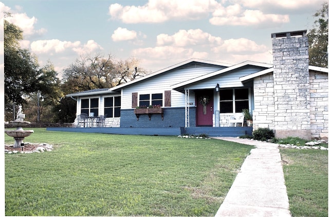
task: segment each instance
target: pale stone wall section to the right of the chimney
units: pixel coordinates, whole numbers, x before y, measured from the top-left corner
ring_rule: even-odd
[[[328,74],[309,71],[310,131],[312,138],[328,138]]]

